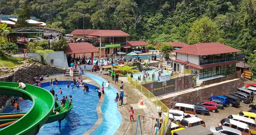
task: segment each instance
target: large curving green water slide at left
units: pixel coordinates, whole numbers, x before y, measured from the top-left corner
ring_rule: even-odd
[[[24,100],[33,101],[31,109],[27,113],[2,113],[0,114],[0,130],[1,135],[7,134],[24,134],[34,135],[39,132],[43,124],[59,121],[69,114],[73,108],[73,104],[68,107],[68,101],[64,108],[59,103],[54,101],[53,95],[47,90],[26,84],[26,90],[16,88],[18,86],[15,82],[0,82],[0,94],[22,97]],[[59,114],[53,113],[60,109]]]

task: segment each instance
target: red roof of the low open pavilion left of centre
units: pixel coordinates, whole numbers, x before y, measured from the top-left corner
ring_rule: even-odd
[[[65,47],[66,54],[78,54],[78,53],[96,53],[99,52],[98,48],[90,43],[68,43]]]

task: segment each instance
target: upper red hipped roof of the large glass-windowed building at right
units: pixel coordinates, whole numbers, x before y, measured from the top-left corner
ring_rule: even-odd
[[[212,55],[212,54],[222,54],[222,53],[234,53],[240,52],[241,50],[234,49],[223,45],[222,43],[196,43],[194,45],[186,46],[173,52],[186,53],[194,55]]]

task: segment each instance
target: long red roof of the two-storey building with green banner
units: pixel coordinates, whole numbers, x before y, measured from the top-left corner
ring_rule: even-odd
[[[71,32],[73,35],[90,35],[90,36],[99,36],[99,37],[112,37],[112,36],[129,36],[129,34],[125,33],[121,30],[74,30]]]

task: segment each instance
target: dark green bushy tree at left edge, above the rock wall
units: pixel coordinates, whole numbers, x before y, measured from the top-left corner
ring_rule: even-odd
[[[0,56],[3,56],[4,54],[16,54],[18,52],[18,47],[15,43],[1,43],[0,45]]]

